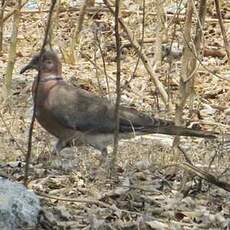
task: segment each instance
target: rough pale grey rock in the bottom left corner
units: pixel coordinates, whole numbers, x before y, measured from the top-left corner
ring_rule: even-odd
[[[34,192],[20,183],[0,177],[1,230],[35,227],[40,210],[40,202]]]

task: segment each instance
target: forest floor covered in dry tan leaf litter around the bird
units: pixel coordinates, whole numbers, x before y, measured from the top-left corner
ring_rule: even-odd
[[[123,15],[126,23],[140,38],[141,15],[135,13],[139,10],[138,5],[124,7],[131,12]],[[224,7],[229,38],[230,3]],[[147,1],[146,10],[155,12],[151,1]],[[146,15],[145,39],[154,40],[156,15]],[[36,75],[33,71],[20,75],[19,71],[40,48],[46,16],[47,13],[22,14],[16,67],[8,95],[3,78],[0,78],[0,160],[9,166],[1,170],[11,174],[17,181],[23,180],[23,162],[32,115],[31,86]],[[56,18],[54,44],[63,63],[63,77],[69,84],[114,100],[116,62],[113,18],[108,12],[95,18],[88,15],[84,22],[75,65],[64,63],[63,50],[76,26],[77,12],[62,12],[59,20]],[[203,49],[215,52],[206,52],[202,65],[198,66],[193,109],[189,110],[186,106],[184,120],[191,126],[226,134],[230,133],[230,70],[226,57],[221,56],[225,51],[220,26],[217,20],[211,19],[216,19],[216,15],[210,5]],[[102,54],[95,40],[96,26],[100,28],[98,36]],[[171,26],[168,34],[172,30]],[[182,30],[183,20],[176,28],[180,44],[183,44]],[[2,76],[7,64],[10,34],[11,23],[7,23],[4,52],[0,57]],[[126,40],[124,37],[123,42]],[[168,39],[171,41],[170,36]],[[143,52],[151,62],[154,41],[145,43]],[[101,55],[105,58],[109,95]],[[129,81],[136,62],[136,53],[127,45],[122,52],[122,85]],[[156,72],[167,85],[172,102],[177,98],[180,70],[181,59],[175,59],[170,69],[169,64],[163,62]],[[161,102],[142,63],[122,92],[122,103],[149,115],[174,118],[174,114],[169,114]],[[186,155],[196,168],[229,182],[230,138],[226,141],[222,136],[216,140],[181,137],[180,146],[185,155],[173,150],[173,139],[172,136],[154,134],[120,141],[117,177],[111,179],[108,165],[99,167],[100,153],[89,146],[67,148],[62,151],[61,158],[44,160],[49,158],[55,140],[36,122],[29,188],[41,197],[43,217],[39,229],[229,229],[228,191],[198,177],[197,173],[188,170],[184,162]],[[111,152],[112,146],[109,148]]]

